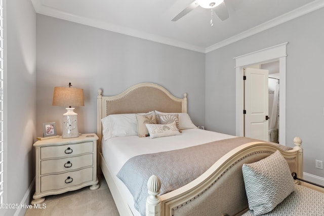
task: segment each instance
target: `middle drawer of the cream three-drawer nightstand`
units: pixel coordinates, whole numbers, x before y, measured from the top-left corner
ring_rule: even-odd
[[[41,161],[41,175],[75,170],[93,165],[93,154]]]

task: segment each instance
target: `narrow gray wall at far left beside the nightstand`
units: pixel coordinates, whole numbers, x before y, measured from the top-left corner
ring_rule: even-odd
[[[21,203],[34,178],[36,138],[36,13],[30,0],[7,1],[7,48],[5,196],[6,203]],[[5,215],[14,215],[17,209],[7,210]]]

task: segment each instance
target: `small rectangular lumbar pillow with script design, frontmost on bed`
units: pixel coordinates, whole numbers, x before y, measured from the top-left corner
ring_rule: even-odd
[[[180,135],[176,122],[170,124],[145,124],[150,139]]]

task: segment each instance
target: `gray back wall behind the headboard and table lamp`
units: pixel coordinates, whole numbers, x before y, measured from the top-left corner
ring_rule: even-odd
[[[97,130],[97,91],[115,95],[139,82],[188,94],[188,113],[205,124],[205,54],[37,14],[37,136],[43,122],[62,133],[65,107],[52,106],[56,86],[84,89],[76,107],[80,133]],[[149,99],[148,99],[149,100]]]

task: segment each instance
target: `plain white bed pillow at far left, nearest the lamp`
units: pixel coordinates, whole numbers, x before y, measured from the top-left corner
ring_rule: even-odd
[[[137,135],[137,120],[135,113],[112,114],[101,119],[103,137],[126,137]]]

